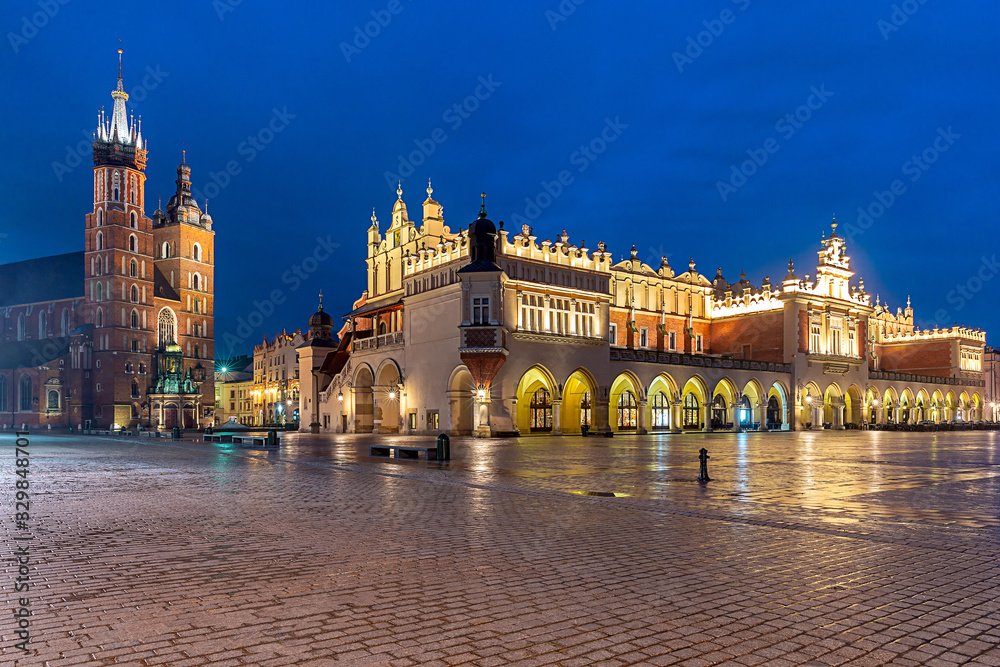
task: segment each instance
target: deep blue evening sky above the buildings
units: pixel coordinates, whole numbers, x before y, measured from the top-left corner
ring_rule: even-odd
[[[34,34],[24,17],[42,11],[38,0],[5,2],[0,262],[82,247],[89,158],[61,182],[53,163],[90,135],[100,106],[110,109],[121,39],[129,106],[150,144],[147,214],[173,192],[182,144],[196,189],[215,194],[220,355],[304,328],[320,289],[328,310],[349,310],[365,286],[372,206],[386,221],[395,200],[385,173],[437,128],[446,139],[403,185],[411,217],[431,177],[452,229],[475,218],[483,189],[491,217],[519,229],[525,198],[569,170],[536,235],[565,228],[616,255],[635,243],[654,266],[667,254],[683,269],[693,255],[710,279],[721,266],[730,281],[742,269],[776,282],[789,257],[800,276],[814,273],[831,215],[843,230],[898,179],[905,192],[867,229],[855,226],[848,247],[868,290],[893,309],[912,295],[918,324],[1000,329],[1000,280],[976,277],[998,270],[982,268],[998,253],[997,3],[909,0],[897,6],[915,13],[905,23],[897,13],[890,31],[889,1],[565,0],[575,11],[555,22],[558,0],[400,0],[348,62],[341,43],[390,4],[76,0]],[[730,22],[713,23],[720,17]],[[708,45],[679,71],[673,54],[699,33]],[[499,86],[456,127],[445,113],[491,76]],[[144,77],[149,89],[137,92]],[[776,126],[814,87],[832,95],[812,99],[801,127]],[[294,118],[250,161],[241,143],[275,108]],[[574,155],[606,119],[627,128],[593,161]],[[948,128],[933,165],[906,165]],[[777,152],[724,201],[719,181],[766,144]],[[210,172],[231,160],[240,173],[211,192]],[[327,235],[342,245],[293,289],[282,275]],[[981,290],[966,299],[958,285]],[[228,349],[224,334],[276,289],[286,303],[243,349]]]

